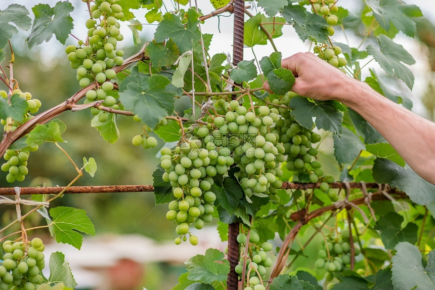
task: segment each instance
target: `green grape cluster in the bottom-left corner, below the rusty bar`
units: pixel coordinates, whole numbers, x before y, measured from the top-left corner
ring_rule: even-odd
[[[23,242],[3,243],[0,261],[0,290],[35,290],[42,284],[40,272],[45,268],[45,246],[40,238],[28,245]]]

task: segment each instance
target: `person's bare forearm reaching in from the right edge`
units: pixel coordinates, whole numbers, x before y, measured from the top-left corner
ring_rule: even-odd
[[[337,99],[366,119],[417,174],[435,184],[435,123],[391,102],[356,80],[343,84]]]

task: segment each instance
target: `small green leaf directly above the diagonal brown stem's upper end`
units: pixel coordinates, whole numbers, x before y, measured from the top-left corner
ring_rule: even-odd
[[[162,66],[171,66],[180,55],[180,51],[172,39],[167,40],[165,45],[153,40],[148,44],[146,52],[150,55],[152,66],[159,71]]]

